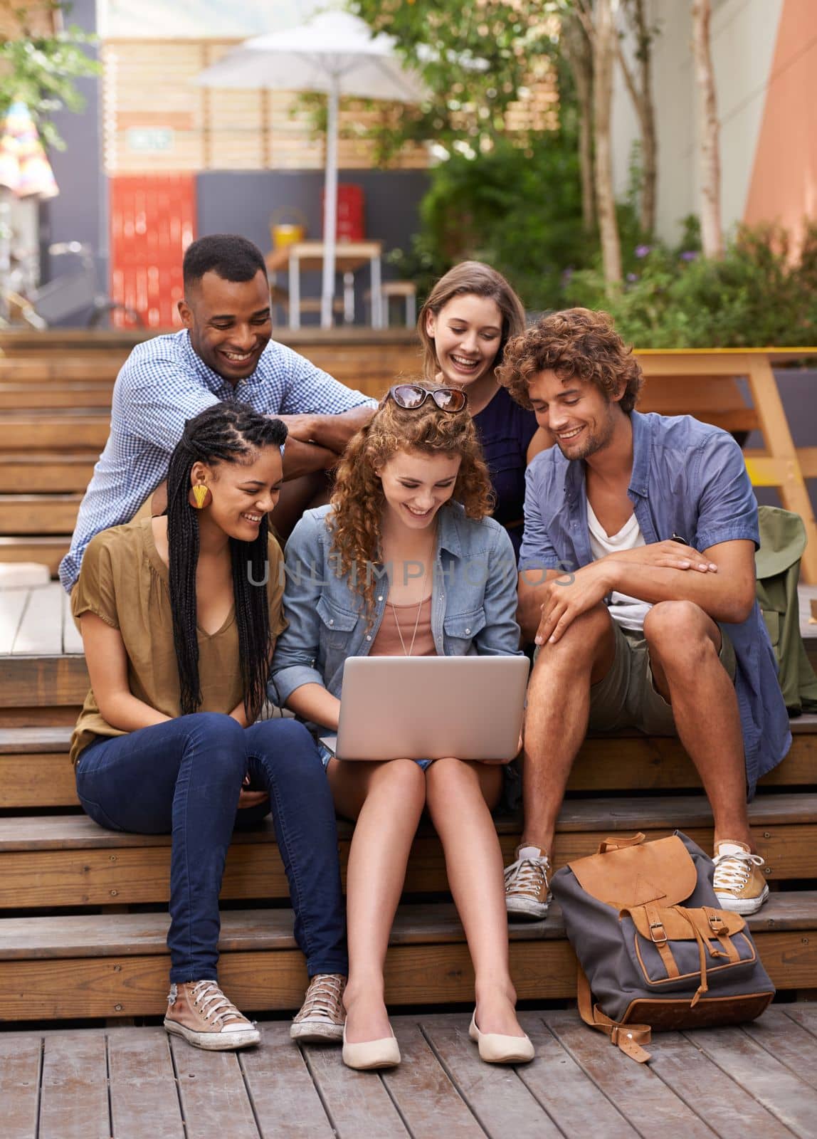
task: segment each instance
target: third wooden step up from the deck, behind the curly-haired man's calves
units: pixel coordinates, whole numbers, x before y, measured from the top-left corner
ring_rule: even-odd
[[[0,728],[0,810],[76,804],[66,759],[72,727]],[[793,720],[792,734],[789,755],[760,780],[761,787],[817,786],[817,715]],[[679,740],[632,734],[586,739],[568,784],[570,792],[595,793],[696,787],[700,780]]]

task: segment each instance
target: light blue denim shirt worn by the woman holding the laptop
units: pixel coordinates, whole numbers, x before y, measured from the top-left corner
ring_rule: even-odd
[[[289,624],[272,659],[271,695],[280,703],[310,683],[339,697],[344,662],[368,656],[386,608],[385,576],[376,576],[383,588],[374,590],[371,626],[360,593],[337,576],[330,509],[307,510],[287,542],[283,609]],[[519,654],[517,564],[507,532],[493,518],[465,517],[459,502],[441,507],[438,519],[431,601],[437,654]]]

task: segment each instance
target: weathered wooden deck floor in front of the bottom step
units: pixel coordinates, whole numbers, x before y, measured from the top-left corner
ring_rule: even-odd
[[[468,1014],[403,1016],[401,1067],[344,1067],[262,1044],[201,1052],[162,1027],[0,1033],[3,1139],[685,1139],[817,1133],[817,1005],[777,1005],[743,1029],[662,1033],[642,1067],[572,1011],[525,1013],[536,1059],[481,1064]]]

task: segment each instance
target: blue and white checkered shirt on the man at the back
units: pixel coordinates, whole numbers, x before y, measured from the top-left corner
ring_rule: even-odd
[[[71,591],[94,534],[130,522],[167,475],[184,420],[213,403],[246,403],[263,415],[339,415],[374,402],[275,341],[251,376],[233,387],[196,354],[187,330],[137,345],[114,386],[110,435],[59,566]]]

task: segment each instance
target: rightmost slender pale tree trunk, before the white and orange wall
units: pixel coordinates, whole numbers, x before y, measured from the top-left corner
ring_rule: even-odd
[[[711,0],[693,0],[692,49],[698,82],[701,244],[705,256],[721,257],[724,233],[720,224],[720,149],[715,69],[709,42],[711,15]]]

